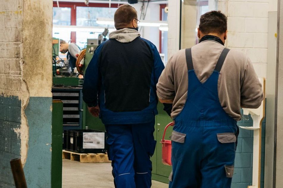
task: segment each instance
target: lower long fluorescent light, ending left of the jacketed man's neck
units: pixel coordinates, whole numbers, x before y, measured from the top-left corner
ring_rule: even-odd
[[[96,26],[60,26],[53,25],[53,32],[60,31],[82,31],[82,32],[98,32],[103,33],[105,27],[96,27]],[[109,32],[115,31],[116,29],[113,27],[108,28]]]

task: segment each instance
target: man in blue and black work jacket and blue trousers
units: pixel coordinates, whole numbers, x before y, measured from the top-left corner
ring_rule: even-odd
[[[105,124],[115,187],[151,187],[156,84],[164,64],[154,44],[140,37],[133,7],[119,7],[114,22],[117,31],[87,67],[83,99]]]

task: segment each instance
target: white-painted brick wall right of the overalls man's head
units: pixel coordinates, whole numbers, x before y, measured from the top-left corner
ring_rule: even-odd
[[[259,77],[267,73],[268,0],[224,0],[218,9],[228,17],[226,45],[248,55]]]

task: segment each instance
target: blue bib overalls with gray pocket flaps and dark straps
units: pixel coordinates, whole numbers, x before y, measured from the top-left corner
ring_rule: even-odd
[[[193,69],[191,49],[186,49],[188,93],[174,119],[170,188],[231,187],[238,128],[218,98],[218,77],[228,52],[224,48],[215,70],[201,83]]]

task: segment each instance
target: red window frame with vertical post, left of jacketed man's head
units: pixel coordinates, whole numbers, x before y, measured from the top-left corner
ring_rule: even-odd
[[[123,4],[123,3],[122,3]],[[122,5],[121,4],[121,5]],[[53,7],[57,7],[57,1],[53,1]],[[76,7],[109,7],[108,3],[76,3],[76,2],[60,2],[59,7],[71,8],[71,26],[76,26]],[[111,4],[111,8],[118,7],[118,4]],[[71,32],[71,41],[76,42],[76,32]]]

